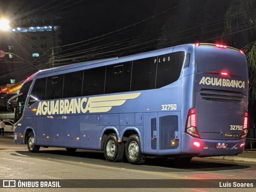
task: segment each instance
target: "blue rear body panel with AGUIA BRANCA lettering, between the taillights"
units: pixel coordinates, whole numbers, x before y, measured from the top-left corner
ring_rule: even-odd
[[[195,113],[199,137],[242,139],[248,104],[244,54],[214,46],[199,46],[196,54]]]

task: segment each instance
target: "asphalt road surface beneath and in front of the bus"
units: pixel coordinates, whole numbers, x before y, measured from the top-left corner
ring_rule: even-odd
[[[87,188],[0,188],[0,191],[180,191],[180,192],[248,192],[255,188],[225,188],[218,180],[242,179],[243,182],[256,178],[256,165],[241,164],[225,161],[212,161],[204,158],[195,158],[188,164],[180,165],[172,159],[148,160],[143,165],[132,165],[124,162],[108,162],[102,152],[77,150],[69,154],[64,148],[40,148],[38,153],[30,153],[26,145],[14,144],[11,134],[0,137],[0,179],[2,180],[65,180],[65,182],[96,182],[95,187]],[[73,180],[79,179],[79,180]],[[91,179],[91,180],[88,180]],[[106,179],[109,182],[106,187]],[[215,179],[216,188],[183,188],[179,182],[193,180],[196,183],[201,179]],[[184,185],[187,182],[184,182]],[[143,184],[144,182],[144,184]],[[148,183],[147,183],[148,182]],[[179,184],[178,188],[162,188],[160,183],[170,182]],[[256,180],[253,180],[256,186]],[[145,183],[154,188],[145,188]],[[122,186],[120,188],[115,188]],[[226,185],[226,182],[224,183]],[[140,188],[143,186],[144,188]],[[137,188],[133,188],[137,187]]]

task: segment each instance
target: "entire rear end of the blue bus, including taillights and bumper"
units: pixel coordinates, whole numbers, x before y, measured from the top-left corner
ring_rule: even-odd
[[[196,47],[195,63],[194,106],[188,110],[182,152],[195,156],[242,153],[248,129],[248,67],[244,53],[201,44]]]

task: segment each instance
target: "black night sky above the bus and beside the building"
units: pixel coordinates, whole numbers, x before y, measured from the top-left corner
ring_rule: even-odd
[[[77,56],[73,55],[76,51],[86,50],[80,54],[86,55],[84,60],[74,59],[74,62],[81,62],[195,42],[218,42],[240,49],[248,41],[244,41],[239,33],[232,37],[227,35],[224,24],[228,8],[240,2],[1,0],[0,15],[9,18],[12,27],[61,26],[60,56],[69,54],[72,58]],[[244,24],[239,27],[242,30],[248,28]],[[232,38],[237,40],[236,43],[230,43]],[[255,35],[251,38],[256,39]]]

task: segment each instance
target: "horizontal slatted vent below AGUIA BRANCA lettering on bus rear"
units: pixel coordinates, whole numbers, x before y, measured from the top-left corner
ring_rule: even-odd
[[[200,95],[202,99],[209,101],[240,103],[243,99],[242,92],[216,89],[201,89]]]

